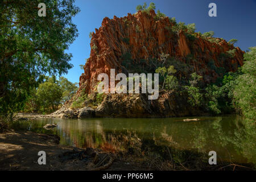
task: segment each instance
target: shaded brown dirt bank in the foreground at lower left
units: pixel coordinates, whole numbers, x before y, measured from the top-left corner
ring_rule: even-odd
[[[57,144],[55,135],[32,132],[11,132],[0,134],[0,170],[88,170],[85,160],[61,160],[60,154],[83,150]],[[46,152],[46,165],[38,164],[38,152]],[[112,155],[112,154],[110,154]],[[138,170],[130,163],[114,157],[108,170]]]

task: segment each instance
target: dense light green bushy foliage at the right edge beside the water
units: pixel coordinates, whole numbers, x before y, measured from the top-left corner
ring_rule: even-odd
[[[256,47],[243,56],[246,60],[242,66],[242,75],[237,78],[234,100],[241,112],[249,119],[256,118]]]

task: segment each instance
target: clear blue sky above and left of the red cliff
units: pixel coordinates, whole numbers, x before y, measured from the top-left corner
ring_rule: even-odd
[[[256,0],[76,0],[80,13],[73,18],[77,25],[79,36],[67,50],[72,53],[71,63],[67,77],[69,81],[79,82],[80,75],[84,72],[80,64],[85,64],[85,59],[90,55],[89,32],[101,27],[102,20],[107,16],[122,17],[127,13],[135,13],[136,6],[147,5],[154,2],[156,10],[169,17],[175,17],[177,22],[196,23],[196,31],[201,33],[214,31],[214,37],[226,40],[238,39],[235,46],[246,51],[249,47],[256,46]],[[208,16],[208,5],[214,2],[217,5],[217,17]]]

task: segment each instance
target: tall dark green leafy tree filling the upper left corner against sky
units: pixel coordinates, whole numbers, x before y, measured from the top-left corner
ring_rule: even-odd
[[[47,16],[38,16],[40,1],[0,2],[0,114],[23,108],[42,75],[67,73],[72,55],[65,53],[77,37],[73,0],[49,0]]]

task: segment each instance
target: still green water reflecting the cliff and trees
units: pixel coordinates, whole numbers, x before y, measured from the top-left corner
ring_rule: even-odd
[[[180,150],[216,151],[218,159],[256,163],[255,127],[235,115],[197,117],[200,121],[183,122],[184,118],[43,118],[22,122],[23,128],[60,136],[60,144],[76,147],[125,151],[129,145],[146,140]],[[43,129],[56,123],[53,130]],[[19,125],[20,125],[19,124]]]

